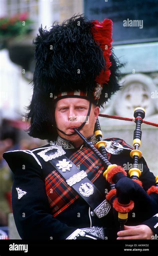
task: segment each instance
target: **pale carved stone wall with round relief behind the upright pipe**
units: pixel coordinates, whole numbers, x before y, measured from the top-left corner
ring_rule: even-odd
[[[127,74],[120,81],[123,88],[113,95],[102,114],[122,117],[133,117],[134,109],[142,107],[146,110],[144,120],[158,123],[158,73]],[[134,122],[99,118],[104,137],[119,137],[132,145]],[[142,143],[140,150],[150,171],[158,175],[158,129],[142,124]]]

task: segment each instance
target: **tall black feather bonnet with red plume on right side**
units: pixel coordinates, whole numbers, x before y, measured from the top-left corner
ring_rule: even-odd
[[[112,52],[112,21],[76,15],[46,30],[35,45],[33,96],[28,106],[29,135],[55,141],[53,105],[63,92],[78,91],[99,107],[120,89],[119,62]],[[67,95],[68,97],[68,95]],[[84,97],[83,97],[84,98]],[[58,98],[59,99],[59,98]]]

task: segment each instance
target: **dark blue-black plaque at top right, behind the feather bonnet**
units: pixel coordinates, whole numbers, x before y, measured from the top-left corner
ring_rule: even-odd
[[[113,21],[114,44],[158,39],[157,0],[84,0],[84,13],[90,20]]]

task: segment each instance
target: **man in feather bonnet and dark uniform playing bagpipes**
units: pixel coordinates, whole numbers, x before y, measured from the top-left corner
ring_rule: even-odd
[[[67,24],[54,25],[50,31],[41,27],[39,32],[27,117],[31,118],[29,135],[49,144],[3,154],[14,173],[12,207],[19,235],[47,240],[151,239],[157,232],[158,217],[152,217],[157,209],[141,215],[141,209],[134,208],[134,223],[130,216],[127,224],[136,226],[117,233],[115,211],[105,199],[110,190],[103,177],[105,167],[74,130],[95,145],[99,107],[120,88],[119,64],[111,51],[112,21],[91,22],[78,15]],[[118,138],[106,142],[110,163],[132,163],[131,146]],[[155,177],[143,157],[140,163],[140,179],[147,191]],[[141,189],[130,182],[137,191]]]

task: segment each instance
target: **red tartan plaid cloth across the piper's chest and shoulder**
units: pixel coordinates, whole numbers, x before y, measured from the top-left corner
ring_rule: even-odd
[[[124,140],[119,138],[107,138],[105,140],[117,141],[125,147],[129,146]],[[107,153],[108,160],[110,160],[110,153]],[[93,183],[104,171],[104,167],[100,162],[99,158],[87,147],[83,146],[73,153],[69,159],[78,167],[80,170],[84,170],[87,173],[87,178]],[[59,213],[70,206],[79,195],[71,188],[64,178],[59,174],[57,170],[53,170],[45,178],[46,193],[51,208],[53,217],[56,217]]]

